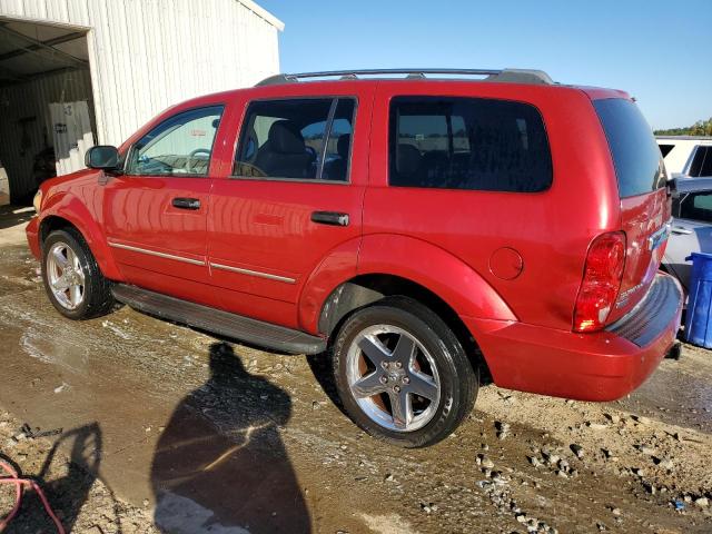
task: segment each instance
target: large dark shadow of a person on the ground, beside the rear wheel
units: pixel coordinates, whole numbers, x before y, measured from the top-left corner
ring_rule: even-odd
[[[210,346],[210,378],[187,395],[157,444],[156,525],[167,533],[306,533],[310,518],[279,435],[291,400]]]

